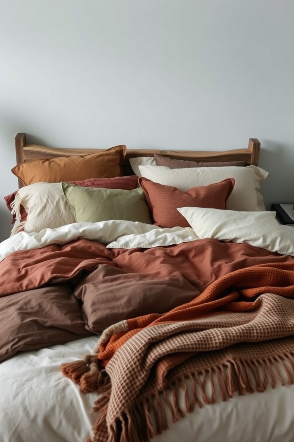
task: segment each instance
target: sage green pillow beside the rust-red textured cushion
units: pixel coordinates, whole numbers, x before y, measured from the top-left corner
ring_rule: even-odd
[[[82,187],[65,182],[61,182],[61,188],[76,222],[124,220],[152,224],[149,206],[141,188],[127,191]]]

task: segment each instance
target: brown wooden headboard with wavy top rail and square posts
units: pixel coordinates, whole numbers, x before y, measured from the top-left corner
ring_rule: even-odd
[[[124,175],[134,175],[130,167],[130,158],[136,156],[154,156],[154,153],[179,160],[193,160],[199,162],[220,161],[246,161],[248,165],[258,165],[260,142],[257,138],[249,138],[248,147],[245,149],[231,149],[226,151],[194,151],[194,150],[156,150],[156,149],[127,149],[123,165]],[[18,133],[15,137],[15,153],[17,164],[25,161],[56,158],[58,156],[84,156],[88,153],[101,152],[105,149],[67,149],[40,146],[26,142],[26,134]],[[24,183],[19,179],[19,187]]]

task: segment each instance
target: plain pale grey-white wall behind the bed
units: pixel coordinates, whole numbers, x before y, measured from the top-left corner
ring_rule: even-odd
[[[0,0],[0,239],[14,137],[63,147],[234,149],[294,200],[293,0]]]

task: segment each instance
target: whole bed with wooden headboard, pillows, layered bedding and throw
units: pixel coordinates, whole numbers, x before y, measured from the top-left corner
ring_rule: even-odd
[[[0,441],[293,441],[294,229],[259,141],[15,149]]]

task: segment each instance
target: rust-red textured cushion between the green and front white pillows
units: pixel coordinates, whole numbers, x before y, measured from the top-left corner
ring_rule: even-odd
[[[206,207],[226,209],[227,198],[234,188],[234,178],[227,178],[219,183],[193,187],[182,192],[176,187],[165,186],[140,177],[138,183],[145,192],[154,224],[162,228],[190,227],[190,224],[178,207]]]

